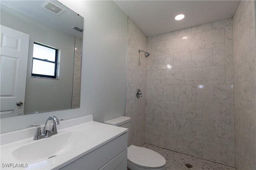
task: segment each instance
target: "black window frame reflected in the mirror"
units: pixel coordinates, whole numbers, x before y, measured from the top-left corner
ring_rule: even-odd
[[[58,49],[56,48],[53,48],[53,47],[49,47],[47,45],[44,45],[44,44],[41,44],[41,43],[37,43],[37,42],[34,42],[34,44],[37,44],[37,45],[41,45],[43,47],[47,47],[47,48],[50,48],[50,49],[54,49],[55,50],[55,61],[48,61],[48,60],[44,60],[44,59],[38,59],[36,57],[32,57],[32,69],[31,69],[31,76],[36,76],[36,77],[46,77],[46,78],[57,78],[57,66],[58,66]],[[34,47],[34,44],[33,44],[33,47]],[[33,49],[33,53],[34,53],[34,49]],[[50,76],[50,75],[45,75],[45,74],[34,74],[32,71],[33,71],[33,62],[34,60],[39,60],[39,61],[44,61],[44,62],[48,62],[48,63],[54,63],[55,64],[55,67],[54,67],[54,76]]]

